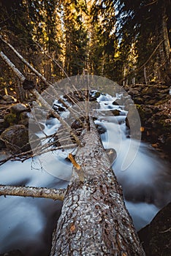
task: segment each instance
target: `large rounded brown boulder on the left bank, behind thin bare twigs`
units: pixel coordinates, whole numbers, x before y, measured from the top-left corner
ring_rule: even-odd
[[[4,141],[7,149],[11,151],[12,154],[31,149],[28,143],[28,128],[21,124],[16,124],[5,129],[4,132],[1,133],[1,140]]]

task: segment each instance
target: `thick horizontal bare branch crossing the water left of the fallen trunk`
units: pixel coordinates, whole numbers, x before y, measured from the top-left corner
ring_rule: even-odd
[[[66,189],[47,189],[45,187],[17,187],[0,185],[1,195],[15,195],[21,197],[44,197],[53,200],[64,200]]]

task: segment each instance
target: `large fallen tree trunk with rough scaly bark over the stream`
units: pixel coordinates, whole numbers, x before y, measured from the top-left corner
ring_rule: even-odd
[[[54,255],[145,255],[92,120],[53,233]],[[77,167],[79,166],[79,168]]]

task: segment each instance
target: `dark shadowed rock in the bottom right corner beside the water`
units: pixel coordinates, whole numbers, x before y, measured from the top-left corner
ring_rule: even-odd
[[[171,203],[161,209],[152,222],[138,232],[147,256],[170,256]]]

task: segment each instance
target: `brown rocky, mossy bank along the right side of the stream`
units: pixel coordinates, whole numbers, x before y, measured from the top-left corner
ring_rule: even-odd
[[[142,124],[142,140],[170,159],[171,95],[170,86],[135,84],[125,90],[134,100]],[[131,113],[129,113],[131,114]]]

